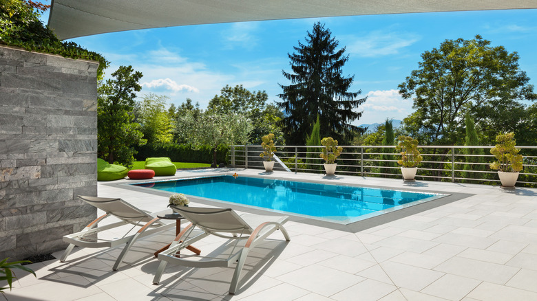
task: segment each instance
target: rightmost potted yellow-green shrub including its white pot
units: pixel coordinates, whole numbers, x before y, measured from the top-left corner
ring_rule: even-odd
[[[498,170],[498,177],[504,188],[514,188],[518,173],[522,170],[522,155],[518,155],[520,149],[516,148],[514,133],[499,134],[496,136],[496,146],[490,149],[490,153],[498,159],[492,162],[490,168]]]

